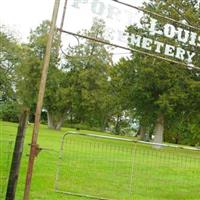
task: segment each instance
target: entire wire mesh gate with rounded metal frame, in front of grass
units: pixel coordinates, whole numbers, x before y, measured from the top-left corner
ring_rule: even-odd
[[[92,134],[64,135],[55,190],[116,200],[200,199],[200,151]]]

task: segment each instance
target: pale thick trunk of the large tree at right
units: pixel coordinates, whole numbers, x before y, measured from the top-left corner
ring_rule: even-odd
[[[154,142],[161,144],[163,142],[164,133],[164,115],[159,114],[156,119],[156,124],[154,128]]]

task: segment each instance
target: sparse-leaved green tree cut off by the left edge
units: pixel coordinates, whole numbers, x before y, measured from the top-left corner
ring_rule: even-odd
[[[0,27],[0,118],[18,122],[19,105],[15,94],[16,67],[22,47],[6,26]]]

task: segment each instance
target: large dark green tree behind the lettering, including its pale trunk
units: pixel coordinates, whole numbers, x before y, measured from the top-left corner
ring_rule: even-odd
[[[190,25],[198,26],[200,20],[196,4],[197,1],[151,0],[145,4],[145,8],[153,12],[165,13],[175,20],[185,20]],[[153,17],[155,18],[155,16]],[[163,24],[166,23],[164,19],[158,20]],[[128,32],[141,34],[140,29],[134,26],[129,27]],[[145,34],[151,37],[148,33]],[[157,37],[154,36],[154,39]],[[168,41],[168,39],[162,40],[163,42]],[[175,40],[174,45],[181,44]],[[132,44],[130,46],[133,47]],[[189,113],[195,114],[196,109],[199,112],[195,103],[198,102],[198,99],[194,95],[199,91],[199,71],[182,68],[177,64],[157,59],[150,61],[149,58],[133,53],[130,62],[132,62],[132,68],[136,73],[132,77],[133,87],[130,95],[136,113],[140,117],[140,122],[145,123],[147,127],[154,124],[154,141],[160,143],[164,139],[164,130],[169,127],[170,122],[178,121],[183,116],[182,113],[187,113],[187,116],[192,120],[193,116]],[[198,60],[196,64],[198,64]],[[193,88],[193,95],[191,88]],[[189,103],[191,101],[193,102],[192,106]],[[176,124],[173,123],[173,126]]]

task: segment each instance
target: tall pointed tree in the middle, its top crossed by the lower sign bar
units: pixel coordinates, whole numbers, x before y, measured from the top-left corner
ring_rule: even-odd
[[[83,35],[106,39],[105,24],[95,20]],[[109,119],[109,69],[112,57],[105,45],[80,39],[67,53],[65,70],[71,91],[71,115],[77,123],[105,129]]]

